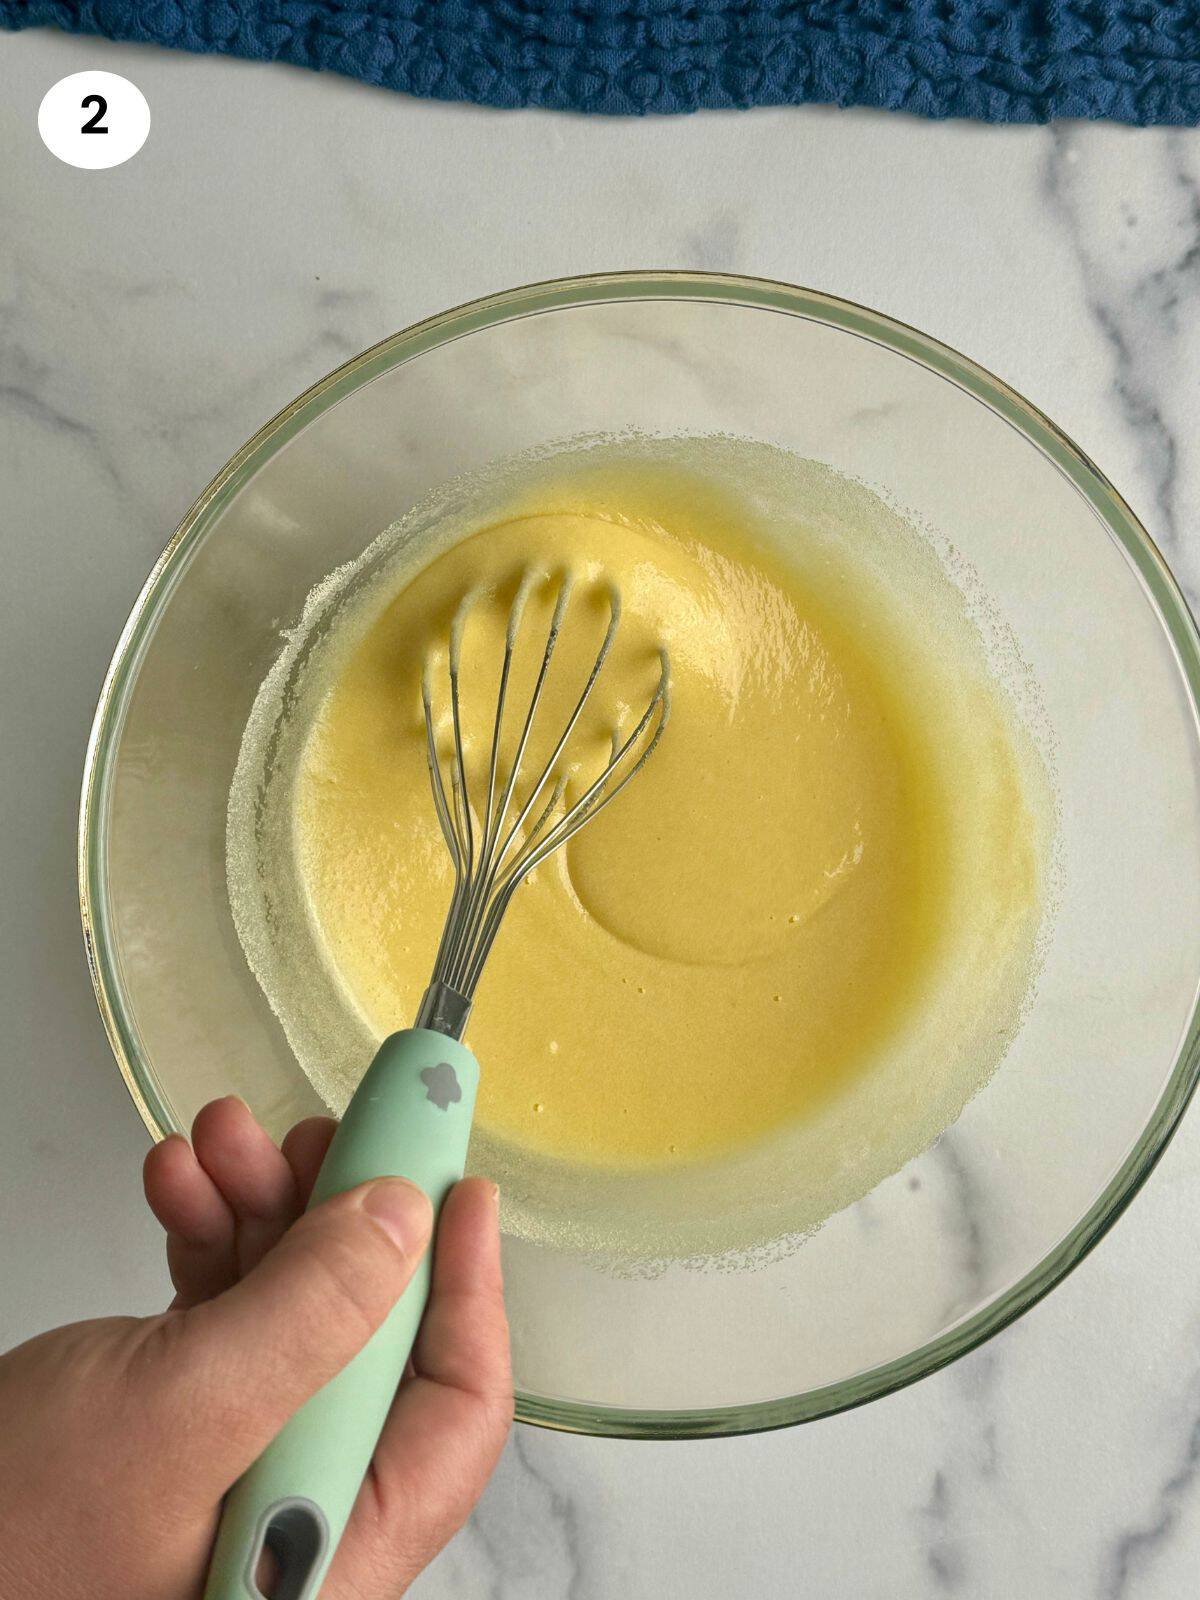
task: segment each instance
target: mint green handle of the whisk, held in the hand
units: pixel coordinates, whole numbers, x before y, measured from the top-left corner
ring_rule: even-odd
[[[445,1034],[413,1027],[379,1046],[350,1101],[312,1205],[371,1178],[408,1178],[437,1213],[462,1176],[478,1064]],[[366,1347],[283,1427],[226,1496],[205,1600],[314,1600],[370,1466],[429,1298],[429,1253]]]

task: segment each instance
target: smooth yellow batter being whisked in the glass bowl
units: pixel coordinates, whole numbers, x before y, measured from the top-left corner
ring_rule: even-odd
[[[294,779],[296,862],[325,960],[373,1034],[411,1021],[451,888],[422,658],[445,648],[467,589],[493,590],[464,643],[482,760],[528,566],[549,578],[523,626],[526,674],[550,579],[576,579],[547,731],[594,656],[602,586],[622,597],[576,784],[611,722],[645,704],[659,643],[672,717],[638,779],[514,901],[467,1035],[485,1138],[606,1170],[712,1158],[845,1101],[938,997],[957,992],[971,1026],[990,1018],[986,1037],[1011,1030],[1021,986],[1000,970],[1027,968],[1040,838],[970,629],[954,619],[939,646],[928,594],[906,610],[853,552],[818,541],[789,557],[746,496],[618,461],[542,474],[406,573],[323,693]],[[962,1066],[922,1070],[950,1083]],[[947,1106],[973,1086],[950,1086]]]

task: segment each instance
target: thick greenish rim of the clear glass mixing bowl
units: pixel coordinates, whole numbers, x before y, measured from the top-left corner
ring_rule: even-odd
[[[1155,542],[1107,477],[1058,424],[1003,379],[950,346],[870,307],[819,290],[770,278],[670,269],[552,278],[486,294],[438,312],[336,366],[259,427],[226,462],[195,499],[154,563],[104,675],[86,746],[80,797],[77,854],[80,918],[88,970],[109,1043],[125,1086],[155,1139],[186,1130],[174,1125],[157,1090],[154,1069],[139,1048],[138,1030],[125,1003],[107,926],[106,824],[112,757],[125,722],[128,696],[157,616],[182,578],[190,554],[222,506],[266,459],[288,443],[302,426],[381,373],[498,323],[578,306],[654,299],[728,304],[824,323],[866,338],[925,366],[1006,421],[1074,485],[1102,528],[1130,558],[1174,648],[1190,696],[1192,715],[1200,725],[1200,635]],[[650,1411],[518,1392],[517,1419],[563,1432],[616,1438],[701,1438],[808,1422],[893,1394],[947,1366],[1000,1333],[1083,1261],[1149,1178],[1179,1125],[1198,1078],[1200,995],[1194,997],[1171,1075],[1154,1114],[1118,1171],[1083,1218],[1008,1290],[907,1355],[797,1395],[710,1408]]]

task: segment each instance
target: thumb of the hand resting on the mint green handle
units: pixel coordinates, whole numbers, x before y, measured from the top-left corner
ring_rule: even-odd
[[[162,1397],[189,1477],[218,1493],[288,1418],[358,1354],[408,1286],[432,1232],[429,1198],[403,1178],[314,1206],[240,1283],[163,1325]],[[155,1358],[152,1358],[152,1365]]]

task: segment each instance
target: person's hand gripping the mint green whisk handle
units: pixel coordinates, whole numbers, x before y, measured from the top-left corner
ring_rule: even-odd
[[[304,1213],[333,1122],[278,1150],[237,1099],[146,1158],[176,1298],[0,1357],[0,1600],[190,1600],[222,1494],[405,1290],[430,1234],[402,1179]],[[462,1525],[512,1421],[496,1190],[458,1184],[429,1307],[322,1600],[395,1600]]]

